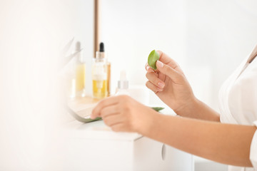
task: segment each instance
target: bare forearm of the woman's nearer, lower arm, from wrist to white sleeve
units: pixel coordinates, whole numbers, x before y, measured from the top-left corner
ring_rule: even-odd
[[[251,167],[254,126],[229,125],[190,118],[154,115],[139,133],[193,155],[228,165]]]

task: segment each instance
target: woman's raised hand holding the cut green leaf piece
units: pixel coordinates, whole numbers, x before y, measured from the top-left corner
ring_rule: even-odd
[[[187,115],[196,102],[193,90],[178,64],[165,53],[158,53],[160,58],[156,62],[156,71],[146,64],[146,87],[153,90],[178,115]]]

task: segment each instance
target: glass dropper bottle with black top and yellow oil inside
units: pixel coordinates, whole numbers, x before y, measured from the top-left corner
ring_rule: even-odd
[[[100,43],[100,51],[96,51],[92,66],[93,97],[106,98],[108,95],[108,71],[104,53],[104,43]]]

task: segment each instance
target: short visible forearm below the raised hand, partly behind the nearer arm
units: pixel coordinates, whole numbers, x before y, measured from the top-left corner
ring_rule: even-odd
[[[175,113],[187,118],[220,122],[220,115],[197,98],[191,100],[185,108],[182,107],[175,110]]]

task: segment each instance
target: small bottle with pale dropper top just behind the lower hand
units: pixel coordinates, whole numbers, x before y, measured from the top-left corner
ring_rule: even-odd
[[[126,78],[126,71],[121,71],[120,73],[115,95],[129,95],[129,81]]]

